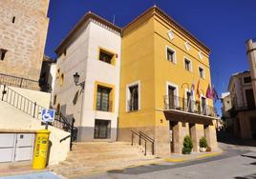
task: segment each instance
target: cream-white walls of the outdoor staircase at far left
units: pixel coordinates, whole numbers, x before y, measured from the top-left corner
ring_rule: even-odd
[[[3,86],[0,87],[1,91]],[[42,103],[41,105],[45,105],[45,101],[50,101],[50,95],[45,92],[40,91],[31,91],[29,89],[17,89],[19,92],[24,92],[26,95],[30,95],[33,99],[36,99]],[[25,92],[27,91],[27,92]],[[28,92],[29,91],[29,92]],[[30,93],[31,92],[31,93]],[[37,96],[35,95],[37,94]],[[48,99],[46,99],[48,96]],[[40,98],[42,97],[42,98]],[[38,102],[39,103],[39,102]],[[37,129],[44,129],[44,126],[41,126],[41,121],[32,116],[24,113],[23,111],[12,107],[10,104],[0,100],[0,131],[35,131]],[[60,161],[64,161],[67,157],[69,151],[70,138],[66,141],[60,143],[60,139],[68,136],[70,133],[56,129],[53,127],[49,127],[51,131],[50,140],[53,144],[51,153],[50,153],[50,165],[57,164]]]

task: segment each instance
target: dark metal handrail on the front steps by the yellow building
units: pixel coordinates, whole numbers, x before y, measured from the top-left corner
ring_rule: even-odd
[[[139,137],[138,144],[139,146],[142,145],[142,140],[144,141],[144,155],[147,155],[147,143],[150,143],[151,145],[151,153],[152,155],[155,154],[155,140],[149,137],[147,134],[143,133],[142,131],[136,132],[134,130],[132,131],[132,146],[135,144],[135,137]]]

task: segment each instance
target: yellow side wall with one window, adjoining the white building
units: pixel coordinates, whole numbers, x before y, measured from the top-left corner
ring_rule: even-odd
[[[118,127],[154,126],[155,77],[153,19],[129,31],[122,38],[122,63],[120,80],[120,105]],[[125,31],[124,31],[125,32]],[[126,85],[140,80],[140,107],[138,111],[126,111]]]

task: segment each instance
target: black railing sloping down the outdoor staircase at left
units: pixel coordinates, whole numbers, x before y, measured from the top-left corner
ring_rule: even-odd
[[[42,109],[45,109],[44,107],[38,105],[36,102],[33,102],[32,100],[24,97],[23,95],[7,87],[6,85],[3,86],[1,100],[10,104],[16,109],[20,109],[21,111],[31,115],[32,118],[36,118],[39,120],[41,120],[42,118]],[[74,124],[74,118],[72,120],[68,120],[60,111],[55,112],[55,119],[53,123],[50,124],[55,128],[63,129],[71,133],[69,136],[60,140],[60,142],[62,142],[63,140],[66,140],[67,138],[71,137],[71,150],[73,142],[75,142],[77,138],[77,128],[75,128]]]

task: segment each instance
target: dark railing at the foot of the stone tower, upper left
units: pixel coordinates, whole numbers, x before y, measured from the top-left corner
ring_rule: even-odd
[[[22,89],[39,90],[39,82],[27,78],[0,73],[0,84]]]

